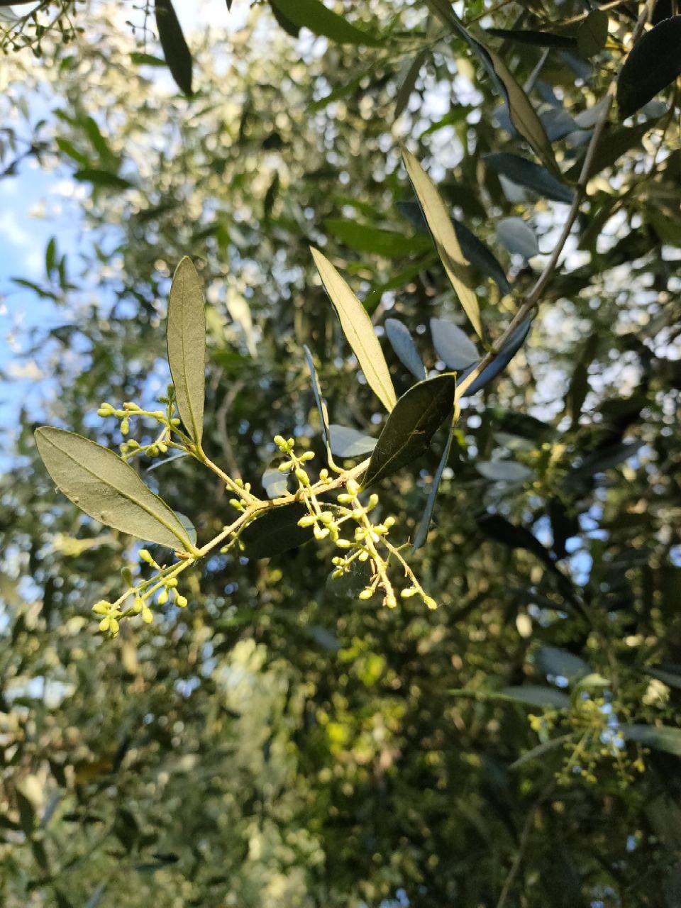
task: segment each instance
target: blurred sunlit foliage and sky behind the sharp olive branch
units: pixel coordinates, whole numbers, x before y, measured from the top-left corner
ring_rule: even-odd
[[[444,369],[430,318],[464,324],[400,143],[498,260],[479,272],[490,337],[558,237],[567,205],[486,161],[527,148],[467,45],[432,14],[438,4],[342,6],[375,41],[306,28],[295,38],[278,5],[178,4],[191,98],[143,5],[43,3],[42,32],[0,10],[12,31],[0,192],[18,187],[5,198],[19,223],[33,213],[55,224],[42,274],[4,260],[2,275],[15,351],[0,480],[9,908],[681,904],[673,86],[626,125],[612,118],[528,342],[465,401],[428,541],[412,556],[437,611],[360,602],[351,583],[327,582],[328,552],[306,546],[210,558],[183,612],[114,641],[94,631],[92,604],[118,587],[133,548],[54,494],[33,429],[50,421],[115,448],[122,439],[94,416],[100,401],[153,405],[169,379],[164,315],[184,254],[206,287],[204,446],[258,483],[278,432],[321,457],[303,344],[331,421],[368,434],[380,422],[311,243],[379,331],[387,315],[404,322],[429,369]],[[577,47],[577,0],[459,10],[471,28],[573,42],[484,39],[531,90],[564,173],[638,13],[607,6],[607,44],[590,58]],[[666,6],[654,22],[675,12]],[[26,212],[38,174],[49,192]],[[508,218],[531,228],[539,255],[513,252],[525,234],[511,222],[508,243],[508,222],[497,232]],[[401,393],[410,379],[384,349]],[[419,525],[443,444],[381,486],[402,538]],[[181,460],[144,479],[200,539],[222,527],[211,474]]]

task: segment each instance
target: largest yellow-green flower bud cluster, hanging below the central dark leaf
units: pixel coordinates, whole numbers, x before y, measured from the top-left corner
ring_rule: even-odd
[[[397,597],[388,575],[390,561],[394,559],[400,563],[405,576],[410,580],[410,585],[402,589],[400,596],[410,598],[418,595],[429,608],[437,607],[435,599],[424,592],[414,577],[399,549],[387,538],[395,518],[388,517],[379,523],[372,522],[370,513],[378,507],[378,495],[371,494],[367,503],[362,504],[360,486],[355,479],[350,478],[345,484],[345,490],[338,496],[338,504],[330,507],[317,497],[317,491],[322,494],[324,487],[331,482],[328,471],[322,470],[319,484],[313,484],[305,469],[305,464],[313,459],[314,454],[311,451],[296,454],[294,440],[283,439],[281,435],[275,437],[274,443],[286,458],[279,469],[283,473],[293,474],[298,482],[299,500],[308,511],[298,521],[298,525],[311,527],[314,538],[320,540],[329,538],[343,552],[332,560],[334,569],[331,577],[342,577],[355,561],[369,562],[370,582],[360,592],[360,599],[370,599],[381,590],[384,604],[394,608],[397,605]],[[345,522],[355,525],[352,538],[341,536],[341,525]]]

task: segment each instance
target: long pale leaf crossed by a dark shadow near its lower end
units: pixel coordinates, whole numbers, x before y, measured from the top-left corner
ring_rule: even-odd
[[[414,155],[405,149],[402,151],[402,157],[449,281],[459,296],[459,301],[468,315],[470,323],[478,336],[482,338],[478,299],[472,290],[473,281],[468,263],[461,252],[449,212],[435,185]]]

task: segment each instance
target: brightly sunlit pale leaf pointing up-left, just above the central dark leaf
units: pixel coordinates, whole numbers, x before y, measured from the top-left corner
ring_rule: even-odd
[[[311,252],[317,271],[320,272],[321,282],[341,321],[341,328],[352,352],[360,363],[360,369],[364,372],[370,389],[390,413],[397,401],[397,395],[392,387],[390,371],[367,311],[331,262],[319,250],[312,249]]]

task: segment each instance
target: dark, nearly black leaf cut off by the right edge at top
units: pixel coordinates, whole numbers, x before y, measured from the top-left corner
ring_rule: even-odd
[[[681,75],[681,15],[663,19],[632,47],[617,78],[622,120],[647,104]]]

